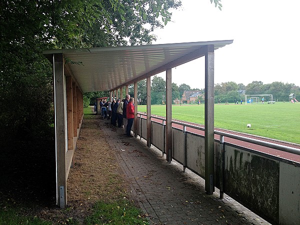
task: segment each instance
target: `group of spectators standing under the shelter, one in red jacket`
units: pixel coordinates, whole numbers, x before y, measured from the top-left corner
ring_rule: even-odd
[[[100,101],[101,116],[103,119],[110,119],[110,123],[113,126],[117,124],[119,128],[124,127],[124,134],[128,137],[133,137],[131,135],[131,127],[134,119],[133,101],[133,97],[130,97],[129,94],[126,94],[122,100],[120,98],[112,98],[112,101],[106,101],[106,99],[101,99]]]

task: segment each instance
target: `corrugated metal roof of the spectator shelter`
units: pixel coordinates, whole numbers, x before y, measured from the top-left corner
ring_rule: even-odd
[[[83,92],[112,90],[157,74],[166,68],[203,56],[203,48],[214,50],[233,40],[200,41],[137,46],[96,47],[88,49],[53,49],[50,56],[63,53],[68,67]]]

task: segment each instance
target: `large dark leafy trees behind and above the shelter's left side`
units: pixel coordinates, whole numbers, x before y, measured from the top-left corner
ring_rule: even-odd
[[[168,10],[180,4],[180,0],[0,1],[0,138],[8,139],[5,133],[13,138],[24,130],[40,133],[41,126],[53,122],[51,65],[42,50],[148,44],[155,39],[149,32],[166,24]]]

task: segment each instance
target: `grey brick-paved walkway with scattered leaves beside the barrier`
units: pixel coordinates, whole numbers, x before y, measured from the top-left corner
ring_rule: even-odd
[[[175,161],[168,163],[145,140],[127,138],[122,128],[100,122],[150,224],[270,224],[225,194],[223,199],[217,192],[207,195],[202,178],[183,172]]]

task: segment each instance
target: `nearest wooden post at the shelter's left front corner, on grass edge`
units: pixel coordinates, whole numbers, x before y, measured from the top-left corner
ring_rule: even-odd
[[[66,205],[66,102],[63,55],[53,54],[54,84],[54,126],[55,126],[55,159],[56,159],[56,204],[60,208]]]

